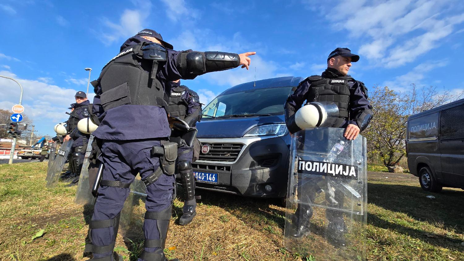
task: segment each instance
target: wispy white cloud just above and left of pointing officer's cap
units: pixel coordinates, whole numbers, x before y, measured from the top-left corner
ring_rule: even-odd
[[[148,0],[133,1],[135,6],[143,6],[140,10],[125,9],[122,12],[119,22],[115,23],[103,17],[105,32],[101,33],[103,44],[110,45],[120,38],[129,38],[142,30],[145,20],[148,18],[151,9],[151,2]]]

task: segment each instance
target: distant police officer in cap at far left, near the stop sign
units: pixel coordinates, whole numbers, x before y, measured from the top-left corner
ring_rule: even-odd
[[[77,129],[77,122],[90,116],[90,101],[87,99],[87,95],[83,91],[78,91],[74,97],[76,98],[76,103],[71,104],[71,114],[68,121],[66,121],[68,134],[64,137],[64,141],[70,139],[74,140],[70,153],[70,166],[72,173],[67,177],[64,176],[64,178],[71,178],[71,183],[68,186],[77,185],[77,182],[79,181],[79,175],[84,162],[85,149],[90,137],[89,134],[83,134]]]

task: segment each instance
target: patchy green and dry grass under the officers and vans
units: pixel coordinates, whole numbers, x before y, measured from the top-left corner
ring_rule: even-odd
[[[82,251],[91,211],[74,204],[76,187],[46,189],[45,172],[46,163],[0,165],[0,260],[88,259]],[[464,191],[425,192],[410,174],[370,172],[368,177],[367,260],[464,260]],[[188,226],[174,223],[183,206],[182,199],[174,201],[165,249],[169,258],[318,260],[283,247],[284,208],[278,200],[206,191],[202,198]],[[120,235],[116,247],[126,261],[135,261],[142,250],[140,241],[124,242]]]

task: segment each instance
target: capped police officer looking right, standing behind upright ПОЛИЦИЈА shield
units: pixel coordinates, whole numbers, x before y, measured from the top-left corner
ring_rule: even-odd
[[[367,101],[367,88],[364,83],[356,81],[348,75],[352,63],[357,62],[359,56],[351,53],[348,48],[336,48],[327,58],[327,69],[322,75],[309,76],[301,82],[295,92],[285,102],[285,121],[289,131],[293,134],[300,130],[296,125],[295,113],[303,102],[334,102],[339,110],[339,117],[329,127],[345,128],[344,137],[354,140],[364,130],[372,118],[372,107]],[[301,192],[299,191],[299,194]],[[316,191],[303,191],[312,201]],[[343,198],[338,198],[343,204]],[[343,232],[346,226],[340,212],[327,210],[329,219],[327,232],[334,235],[329,240],[339,246],[344,245]],[[304,236],[309,232],[309,218],[312,209],[304,205],[298,206],[293,223],[296,225],[295,237]]]

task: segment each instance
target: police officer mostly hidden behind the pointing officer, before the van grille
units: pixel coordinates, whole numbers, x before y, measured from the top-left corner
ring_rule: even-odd
[[[180,85],[180,81],[170,83],[170,88],[166,89],[169,95],[168,114],[169,116],[177,117],[187,123],[189,127],[195,127],[197,121],[201,120],[201,103],[200,97],[196,92],[188,89],[185,85]],[[174,124],[170,141],[178,144],[177,153],[177,173],[180,174],[182,186],[184,188],[185,202],[182,208],[182,216],[179,218],[180,225],[187,225],[192,222],[196,216],[196,200],[195,200],[195,177],[192,170],[193,159],[193,144],[186,144],[186,140],[182,136],[188,130],[180,124]],[[189,135],[189,141],[193,141],[194,137]],[[187,141],[187,142],[189,142]]]

